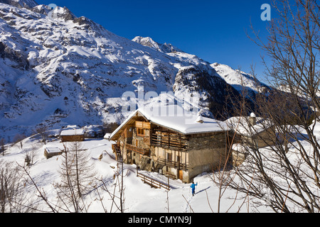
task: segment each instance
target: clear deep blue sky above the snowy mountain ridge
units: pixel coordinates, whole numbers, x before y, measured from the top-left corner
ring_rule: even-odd
[[[38,4],[66,6],[107,30],[132,39],[149,36],[171,43],[210,63],[219,62],[245,72],[256,65],[262,79],[260,55],[265,55],[245,33],[250,21],[266,37],[269,21],[262,21],[262,4],[270,0],[36,0]],[[271,16],[273,12],[271,11]]]

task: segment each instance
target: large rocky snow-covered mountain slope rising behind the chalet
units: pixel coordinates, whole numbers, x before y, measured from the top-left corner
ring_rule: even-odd
[[[229,84],[196,55],[150,48],[66,8],[35,4],[0,0],[0,137],[28,135],[39,124],[120,123],[122,95],[142,88],[177,99],[198,92],[197,107],[213,116],[225,104]]]

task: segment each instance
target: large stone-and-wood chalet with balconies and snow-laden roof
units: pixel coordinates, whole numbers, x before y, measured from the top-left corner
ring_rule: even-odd
[[[228,130],[223,122],[197,115],[160,115],[138,109],[110,135],[117,160],[186,183],[225,163]]]

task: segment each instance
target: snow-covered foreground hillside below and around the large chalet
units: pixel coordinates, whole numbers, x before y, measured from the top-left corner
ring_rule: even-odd
[[[315,123],[315,133],[320,136],[319,128],[319,123]],[[60,130],[48,131],[48,133],[49,139],[46,145],[41,142],[39,135],[33,135],[29,138],[23,139],[21,143],[8,147],[5,155],[0,155],[0,162],[14,162],[23,166],[26,164],[26,155],[33,157],[31,165],[27,167],[30,176],[37,187],[41,188],[41,192],[46,194],[48,201],[50,201],[51,204],[58,205],[58,202],[55,200],[57,196],[57,188],[54,185],[61,180],[61,168],[63,167],[62,163],[64,159],[63,155],[46,159],[44,156],[44,149],[63,149],[63,143],[61,143],[57,138],[57,135],[60,134]],[[303,133],[303,130],[301,133]],[[306,163],[300,162],[301,157],[299,150],[295,148],[298,143],[301,143],[305,148],[307,148],[306,153],[312,153],[309,141],[301,139],[293,142],[289,147],[287,156],[288,161],[299,162],[299,170],[303,170],[303,174],[300,177],[304,177],[304,179],[306,179],[305,184],[310,185],[315,192],[318,192],[319,189],[317,189],[314,182],[311,181],[309,177],[305,176],[311,172]],[[112,205],[110,197],[110,192],[114,192],[114,184],[117,183],[117,179],[114,177],[117,175],[117,166],[119,165],[119,162],[115,160],[114,154],[112,153],[112,142],[101,138],[85,139],[84,142],[80,142],[79,144],[82,149],[82,153],[85,153],[89,158],[87,165],[93,167],[92,172],[95,172],[95,179],[92,178],[89,185],[90,187],[97,187],[97,189],[90,189],[85,196],[83,196],[83,199],[85,199],[85,203],[87,204],[87,211],[85,212],[103,213],[107,211],[108,213],[112,213],[118,211],[115,205]],[[65,145],[70,148],[72,143],[66,143]],[[272,170],[273,167],[277,168],[277,170],[282,170],[282,168],[284,168],[274,165],[272,149],[265,147],[261,148],[260,152],[263,154],[262,157],[265,162],[265,166],[268,167],[268,170]],[[245,161],[242,165],[250,165],[250,161]],[[228,171],[224,174],[233,175],[236,170],[237,169],[230,170],[230,172]],[[126,213],[158,214],[170,212],[186,214],[193,212],[216,213],[218,210],[221,213],[273,212],[267,204],[267,189],[265,196],[260,199],[225,187],[222,187],[222,194],[220,194],[220,186],[219,184],[216,184],[213,179],[218,181],[220,175],[223,174],[222,172],[203,172],[203,174],[195,177],[193,180],[198,183],[198,186],[196,187],[195,196],[192,196],[190,189],[191,184],[183,184],[180,179],[169,180],[171,189],[167,193],[166,189],[155,189],[150,187],[148,184],[144,184],[142,179],[137,177],[136,171],[136,165],[124,165],[124,212]],[[164,184],[168,183],[168,179],[158,172],[146,172],[142,170],[139,170],[139,172]],[[255,175],[255,173],[252,172],[252,175]],[[291,180],[289,178],[279,178],[278,176],[273,175],[270,175],[270,177],[274,180],[283,182],[284,184],[288,180]],[[108,192],[102,189],[103,187],[100,179],[103,180],[105,189],[107,189]],[[240,180],[235,176],[235,178],[233,178],[233,182],[239,184]],[[255,185],[250,185],[250,187],[255,187]],[[257,185],[257,187],[259,186]],[[294,188],[293,185],[292,188]],[[97,192],[99,192],[99,194]],[[48,205],[38,196],[38,192],[36,192],[36,188],[31,181],[28,181],[28,184],[23,187],[23,193],[23,198],[25,198],[23,200],[24,202],[37,201],[34,204],[37,204],[38,211],[50,211]],[[290,192],[290,195],[292,193],[294,192]],[[103,198],[103,206],[100,202],[99,196],[100,198]],[[116,203],[119,204],[119,201],[117,200]],[[61,204],[59,204],[59,206],[61,206]],[[292,212],[304,212],[304,210],[300,210],[299,207],[292,204],[291,201],[287,201],[286,206]],[[58,206],[56,209],[58,209]],[[66,212],[60,209],[58,209],[58,211]]]

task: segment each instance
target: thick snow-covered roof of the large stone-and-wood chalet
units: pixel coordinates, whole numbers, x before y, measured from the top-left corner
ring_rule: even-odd
[[[181,106],[153,106],[154,109],[137,109],[134,111],[113,133],[110,135],[110,140],[116,135],[130,119],[137,114],[144,116],[147,121],[154,123],[164,128],[169,128],[181,134],[196,134],[196,133],[211,133],[225,131],[227,125],[223,121],[218,121],[212,118],[199,116],[195,113],[183,111]]]

